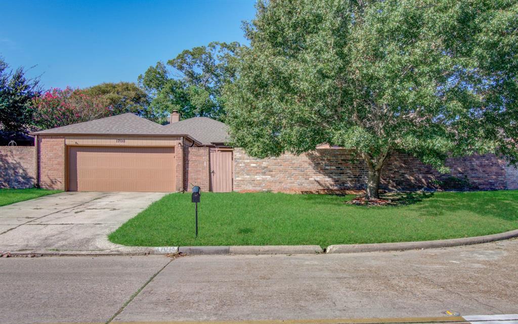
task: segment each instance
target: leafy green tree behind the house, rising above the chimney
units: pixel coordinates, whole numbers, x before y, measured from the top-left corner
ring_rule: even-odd
[[[238,43],[213,42],[184,50],[167,65],[150,66],[139,82],[152,98],[153,110],[164,116],[179,110],[185,118],[224,117],[221,91],[234,79],[232,62],[240,48]]]

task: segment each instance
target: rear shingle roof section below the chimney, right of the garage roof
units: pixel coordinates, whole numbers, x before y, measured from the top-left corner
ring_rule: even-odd
[[[204,145],[225,143],[227,140],[227,126],[208,117],[193,117],[165,125],[170,132],[188,134]]]

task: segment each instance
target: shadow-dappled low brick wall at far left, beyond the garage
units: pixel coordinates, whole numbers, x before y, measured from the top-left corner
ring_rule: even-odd
[[[32,188],[36,181],[34,146],[0,146],[0,188]]]

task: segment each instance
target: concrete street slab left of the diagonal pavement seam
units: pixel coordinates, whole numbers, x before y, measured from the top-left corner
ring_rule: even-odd
[[[0,259],[0,323],[105,322],[165,257]]]

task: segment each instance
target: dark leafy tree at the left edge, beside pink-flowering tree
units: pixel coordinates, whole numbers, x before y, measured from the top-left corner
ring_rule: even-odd
[[[39,95],[39,78],[28,79],[25,69],[16,71],[0,57],[0,130],[25,131],[31,122],[31,101]]]

